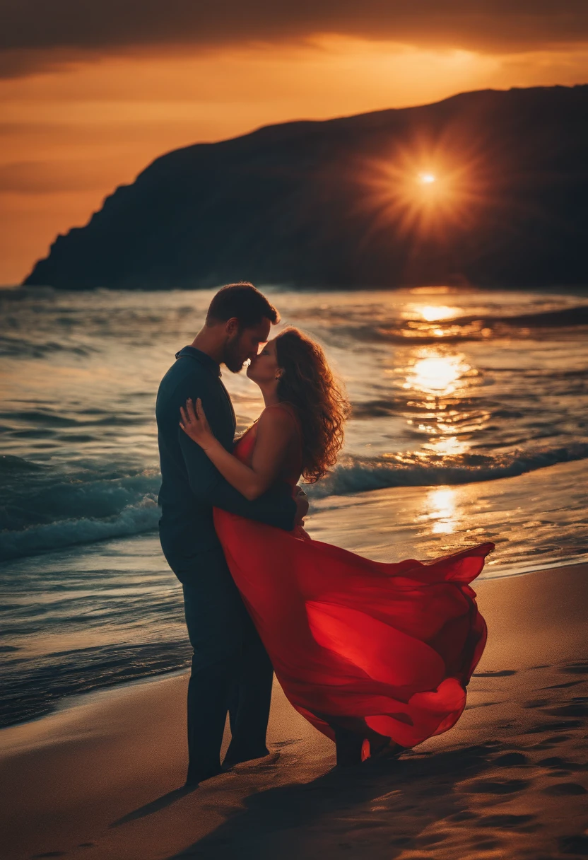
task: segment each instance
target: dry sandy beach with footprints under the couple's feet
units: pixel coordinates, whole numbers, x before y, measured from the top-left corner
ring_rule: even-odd
[[[0,733],[3,860],[588,854],[588,566],[481,581],[490,631],[456,728],[334,770],[276,686],[269,765],[190,793],[187,674],[114,687]]]

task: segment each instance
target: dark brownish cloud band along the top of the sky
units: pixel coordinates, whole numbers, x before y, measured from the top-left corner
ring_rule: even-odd
[[[585,0],[0,0],[0,74],[67,58],[194,51],[315,34],[525,52],[588,43]]]

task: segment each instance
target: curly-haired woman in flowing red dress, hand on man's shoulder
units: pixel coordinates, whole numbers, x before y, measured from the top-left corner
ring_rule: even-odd
[[[265,409],[232,454],[201,404],[181,428],[248,499],[273,482],[295,492],[334,466],[348,403],[321,347],[297,329],[248,367]],[[451,728],[486,643],[468,583],[493,544],[432,562],[371,562],[330,544],[215,509],[236,585],[296,710],[337,744],[338,764],[399,752]]]

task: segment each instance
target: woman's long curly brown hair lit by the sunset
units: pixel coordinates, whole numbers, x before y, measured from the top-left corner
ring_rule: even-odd
[[[303,477],[315,483],[337,462],[343,426],[351,409],[334,378],[322,348],[298,329],[288,328],[275,339],[282,376],[280,401],[296,408],[302,431]]]

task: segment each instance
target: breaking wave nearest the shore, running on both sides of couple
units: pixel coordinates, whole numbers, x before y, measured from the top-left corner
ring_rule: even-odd
[[[377,458],[347,456],[321,482],[309,485],[310,498],[347,495],[392,487],[428,487],[495,481],[523,475],[558,463],[588,458],[588,444],[536,448],[501,455],[439,456],[405,453]],[[9,458],[9,463],[18,458]],[[6,461],[5,461],[6,464]],[[12,463],[13,466],[15,465]],[[21,475],[25,468],[21,461]],[[34,476],[33,476],[34,477]],[[127,537],[157,527],[159,476],[155,471],[83,484],[63,481],[46,488],[46,505],[29,510],[38,521],[0,531],[0,559],[33,556],[75,544],[91,544],[112,537]],[[33,490],[29,487],[29,496]],[[31,502],[32,504],[32,502]],[[51,521],[46,518],[52,516]],[[57,516],[56,516],[57,514]],[[6,510],[3,512],[6,518]],[[15,518],[14,511],[12,519]]]

